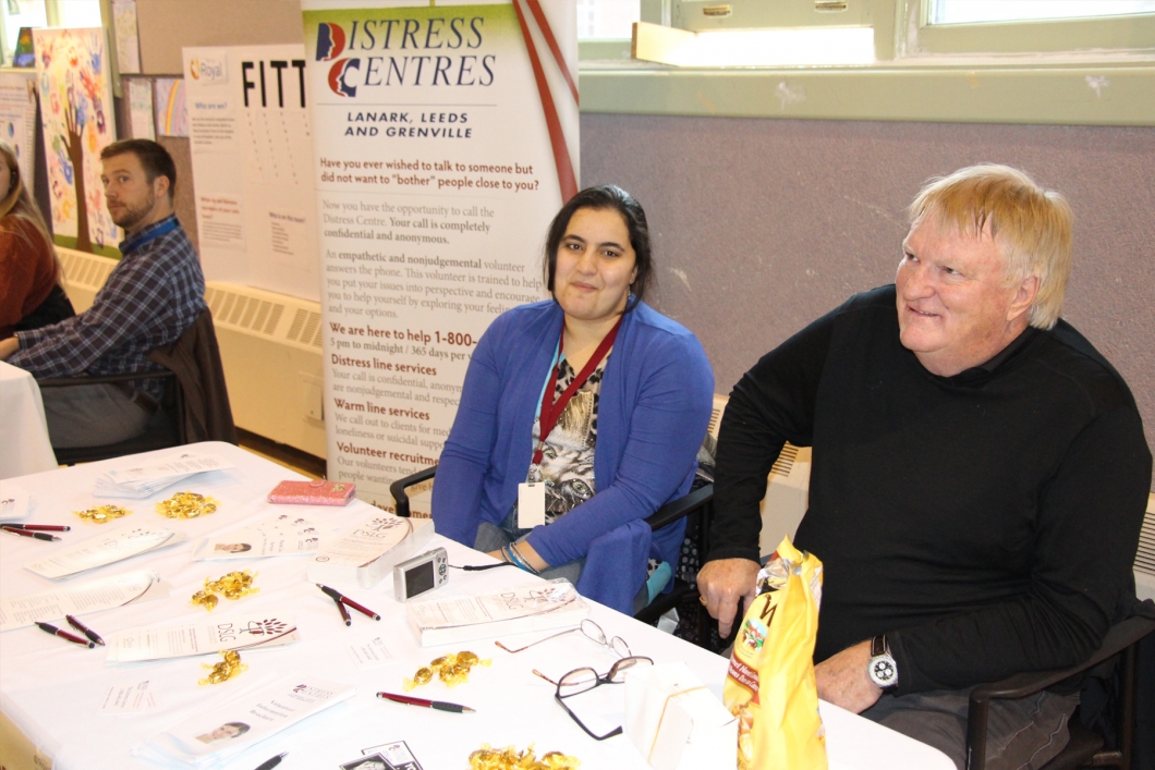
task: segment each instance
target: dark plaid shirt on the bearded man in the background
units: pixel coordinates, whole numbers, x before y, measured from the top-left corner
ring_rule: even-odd
[[[176,229],[164,231],[170,223]],[[20,350],[8,362],[36,377],[121,374],[163,368],[148,360],[204,309],[204,275],[185,229],[169,216],[120,242],[124,259],[96,294],[92,307],[50,327],[18,331]],[[159,399],[158,380],[128,383]]]

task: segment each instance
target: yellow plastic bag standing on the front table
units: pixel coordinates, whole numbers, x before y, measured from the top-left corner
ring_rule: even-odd
[[[738,717],[738,770],[826,770],[814,640],[822,562],[783,538],[758,574],[723,697]]]

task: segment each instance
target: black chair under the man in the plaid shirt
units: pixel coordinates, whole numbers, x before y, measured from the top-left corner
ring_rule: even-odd
[[[142,380],[165,380],[165,396],[161,409],[149,420],[144,433],[125,441],[98,447],[53,447],[52,451],[57,455],[57,462],[61,465],[75,465],[76,463],[91,463],[98,459],[124,457],[125,455],[135,455],[141,451],[166,449],[188,443],[185,436],[184,420],[180,419],[180,416],[185,411],[184,391],[176,373],[167,369],[162,372],[129,372],[103,376],[80,374],[70,377],[38,380],[37,384],[40,388],[70,388],[91,384],[125,384]]]

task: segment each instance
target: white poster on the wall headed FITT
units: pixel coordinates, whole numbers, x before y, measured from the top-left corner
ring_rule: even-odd
[[[320,300],[304,46],[184,53],[206,277]]]

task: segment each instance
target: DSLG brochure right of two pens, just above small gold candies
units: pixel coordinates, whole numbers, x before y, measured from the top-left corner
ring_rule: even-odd
[[[221,650],[274,648],[300,641],[291,613],[262,612],[260,615],[232,618],[198,618],[184,623],[129,628],[112,634],[107,663],[164,660],[196,655],[214,655]]]

